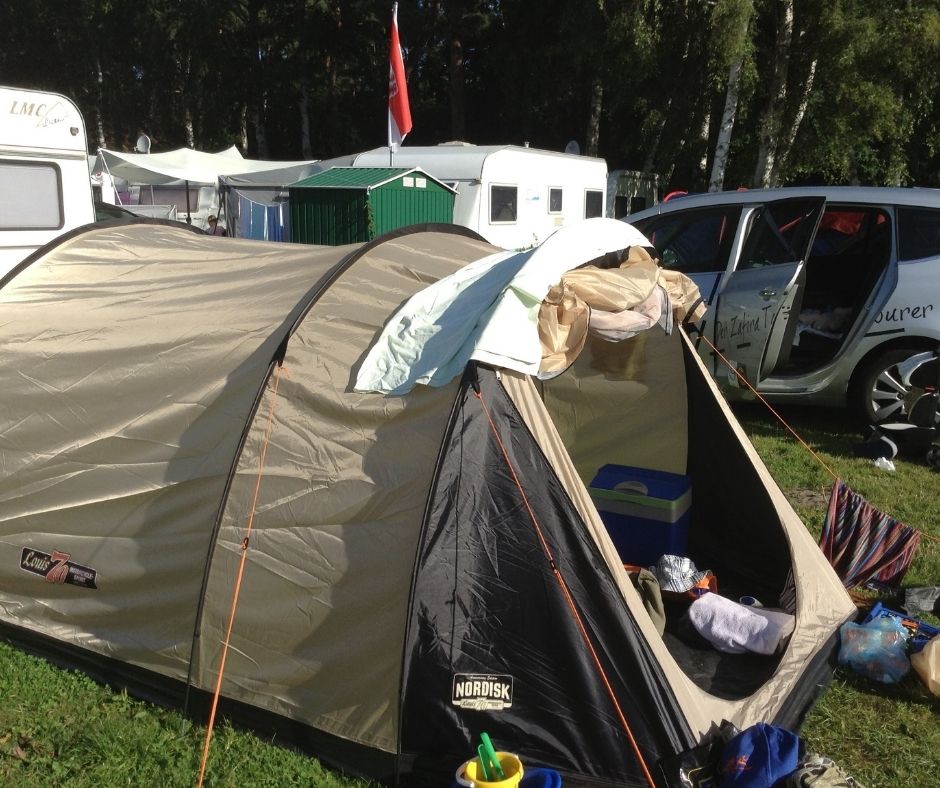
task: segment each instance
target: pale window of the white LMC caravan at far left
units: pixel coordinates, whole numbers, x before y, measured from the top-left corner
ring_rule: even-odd
[[[63,224],[58,167],[0,162],[0,228],[58,230]]]

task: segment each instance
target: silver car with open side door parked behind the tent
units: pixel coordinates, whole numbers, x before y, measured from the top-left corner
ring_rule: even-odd
[[[753,396],[734,368],[768,401],[904,417],[904,362],[940,347],[940,190],[713,192],[624,221],[701,289],[699,350],[729,399]]]

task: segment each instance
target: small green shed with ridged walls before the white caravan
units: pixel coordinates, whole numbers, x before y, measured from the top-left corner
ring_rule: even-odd
[[[331,167],[288,191],[295,243],[361,243],[399,227],[454,221],[456,190],[420,167]]]

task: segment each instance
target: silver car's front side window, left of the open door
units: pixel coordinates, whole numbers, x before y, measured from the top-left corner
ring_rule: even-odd
[[[685,274],[724,271],[738,229],[740,206],[721,206],[643,219],[634,226],[659,251],[663,267]]]

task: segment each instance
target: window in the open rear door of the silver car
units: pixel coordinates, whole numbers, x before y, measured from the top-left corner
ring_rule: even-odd
[[[801,260],[816,227],[817,206],[802,200],[773,202],[752,218],[738,270],[781,265]]]

